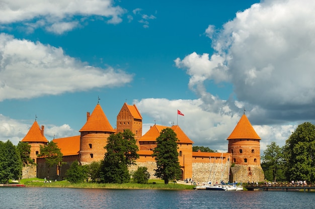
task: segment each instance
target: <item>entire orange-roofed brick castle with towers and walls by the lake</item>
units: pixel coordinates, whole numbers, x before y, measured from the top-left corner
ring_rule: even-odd
[[[61,180],[74,160],[82,165],[102,160],[106,152],[104,146],[107,144],[107,138],[111,134],[129,129],[135,135],[140,156],[136,160],[136,165],[129,167],[129,170],[134,171],[139,166],[146,166],[151,178],[155,178],[153,174],[156,163],[154,157],[151,156],[152,150],[156,147],[155,139],[167,127],[153,125],[142,135],[142,116],[135,104],[131,106],[127,103],[123,104],[118,113],[116,127],[113,129],[98,103],[92,114],[87,113],[87,121],[79,131],[80,135],[53,139],[63,154],[65,164],[50,169],[49,176],[52,179]],[[179,126],[170,128],[179,139],[178,152],[182,179],[192,178],[199,182],[208,180],[212,182],[220,182],[220,180],[225,182],[264,181],[264,172],[260,165],[261,139],[245,114],[227,138],[228,153],[193,152],[194,142],[183,130]],[[37,163],[37,166],[33,168],[33,177],[44,178],[47,174],[45,158],[37,158],[40,145],[48,143],[44,136],[44,126],[40,128],[35,120],[22,142],[28,142],[31,145],[31,158]]]

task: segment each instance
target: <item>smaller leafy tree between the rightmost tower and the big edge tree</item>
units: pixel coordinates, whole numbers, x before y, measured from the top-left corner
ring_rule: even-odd
[[[262,157],[262,168],[265,173],[265,178],[270,181],[284,181],[283,173],[283,152],[276,142],[271,142],[267,145]]]

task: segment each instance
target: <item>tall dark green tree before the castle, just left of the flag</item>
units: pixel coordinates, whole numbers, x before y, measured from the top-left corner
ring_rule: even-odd
[[[171,128],[163,129],[160,136],[156,138],[156,147],[152,154],[157,167],[154,176],[162,178],[165,184],[168,184],[169,180],[181,177],[177,151],[178,141],[176,133]]]

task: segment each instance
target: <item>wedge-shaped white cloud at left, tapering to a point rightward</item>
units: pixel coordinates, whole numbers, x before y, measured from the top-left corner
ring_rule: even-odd
[[[89,66],[61,48],[0,34],[0,101],[129,83],[132,75]]]

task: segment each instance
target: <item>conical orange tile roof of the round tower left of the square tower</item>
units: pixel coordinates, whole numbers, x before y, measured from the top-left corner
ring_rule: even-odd
[[[104,131],[115,133],[115,130],[108,122],[100,104],[96,105],[92,115],[79,132],[83,131]]]

